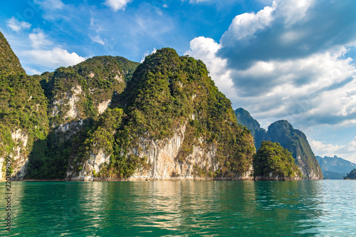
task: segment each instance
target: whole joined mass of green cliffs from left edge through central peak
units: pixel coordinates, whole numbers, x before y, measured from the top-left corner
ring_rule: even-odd
[[[164,48],[140,65],[102,56],[28,76],[0,36],[13,179],[251,179],[251,132],[200,60]]]

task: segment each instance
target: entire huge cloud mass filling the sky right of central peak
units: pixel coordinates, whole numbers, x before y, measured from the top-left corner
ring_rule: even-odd
[[[356,125],[356,69],[347,58],[355,10],[355,1],[273,1],[236,16],[219,43],[194,38],[186,53],[262,123]]]

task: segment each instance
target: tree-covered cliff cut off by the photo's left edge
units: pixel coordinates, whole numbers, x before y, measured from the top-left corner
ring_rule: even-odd
[[[48,133],[47,101],[36,76],[28,76],[0,32],[0,179],[11,157],[12,180],[23,179],[36,141]]]

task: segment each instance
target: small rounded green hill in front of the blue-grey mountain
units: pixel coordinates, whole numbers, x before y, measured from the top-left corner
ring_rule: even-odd
[[[261,148],[253,157],[253,175],[255,177],[290,179],[301,177],[300,170],[288,149],[278,142],[262,142]]]

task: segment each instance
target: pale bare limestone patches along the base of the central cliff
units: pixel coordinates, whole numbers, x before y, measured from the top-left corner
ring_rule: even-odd
[[[170,138],[164,140],[152,140],[144,137],[140,138],[137,147],[130,149],[130,154],[135,154],[138,157],[147,158],[147,165],[137,169],[128,180],[194,180],[201,179],[197,177],[195,167],[203,167],[206,170],[216,171],[219,169],[219,162],[214,159],[216,157],[216,147],[204,146],[203,139],[200,139],[201,145],[193,147],[192,154],[189,154],[187,160],[179,161],[178,154],[182,149],[184,142],[184,134],[186,125],[182,125]],[[110,155],[105,154],[103,149],[100,149],[96,154],[92,153],[83,165],[83,169],[73,175],[73,172],[67,172],[66,180],[71,181],[95,181],[95,180],[115,180],[110,177],[103,179],[95,177],[93,174],[98,174],[100,169],[110,162]],[[93,172],[95,171],[95,172]],[[251,180],[252,166],[248,171],[235,180]],[[203,178],[204,179],[204,178]],[[220,178],[224,179],[224,177]]]

